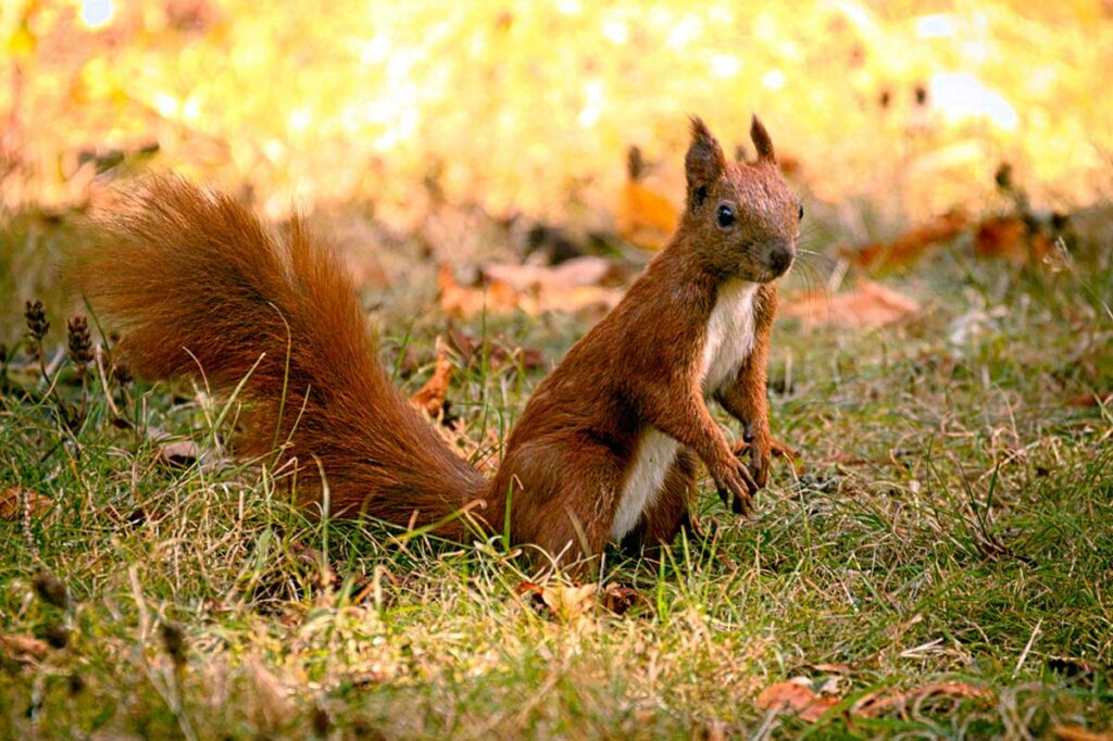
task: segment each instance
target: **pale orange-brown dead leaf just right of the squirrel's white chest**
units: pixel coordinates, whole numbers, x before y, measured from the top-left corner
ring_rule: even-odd
[[[859,279],[846,293],[831,298],[804,296],[788,302],[784,316],[800,318],[805,325],[834,324],[846,327],[876,328],[899,322],[919,312],[919,304],[879,283]]]

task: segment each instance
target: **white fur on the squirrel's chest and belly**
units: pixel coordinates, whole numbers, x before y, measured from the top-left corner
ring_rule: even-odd
[[[719,295],[703,334],[700,377],[703,395],[713,394],[738,373],[742,360],[754,349],[754,295],[758,284],[732,280],[719,287]],[[622,484],[611,540],[620,541],[634,528],[641,513],[661,491],[664,476],[677,456],[679,443],[661,431],[649,427],[634,449],[633,462]]]

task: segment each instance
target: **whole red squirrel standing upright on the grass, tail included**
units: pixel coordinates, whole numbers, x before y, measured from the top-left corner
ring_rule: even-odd
[[[333,515],[456,540],[505,527],[582,563],[609,542],[671,542],[690,523],[697,461],[737,513],[766,483],[774,280],[804,211],[757,117],[750,137],[757,160],[728,161],[691,119],[676,234],[536,387],[490,481],[392,385],[352,280],[296,217],[276,238],[225,195],[151,177],[96,218],[73,275],[134,370],[239,387],[238,453],[280,449],[303,486],[319,463]],[[745,425],[749,465],[708,399]],[[469,504],[473,516],[452,516]]]

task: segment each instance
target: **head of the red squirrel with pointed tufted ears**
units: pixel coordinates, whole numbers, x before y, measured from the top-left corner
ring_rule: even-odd
[[[691,131],[686,241],[723,277],[756,283],[780,277],[796,257],[804,208],[781,177],[769,134],[755,116],[750,138],[757,160],[729,162],[703,121],[693,117]]]

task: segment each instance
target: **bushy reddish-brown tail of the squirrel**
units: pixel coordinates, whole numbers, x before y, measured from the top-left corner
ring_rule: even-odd
[[[93,226],[73,277],[120,329],[119,352],[148,378],[243,382],[240,453],[285,446],[311,488],[319,461],[334,514],[421,526],[482,495],[482,476],[394,388],[343,266],[296,217],[276,238],[228,196],[157,176]]]

